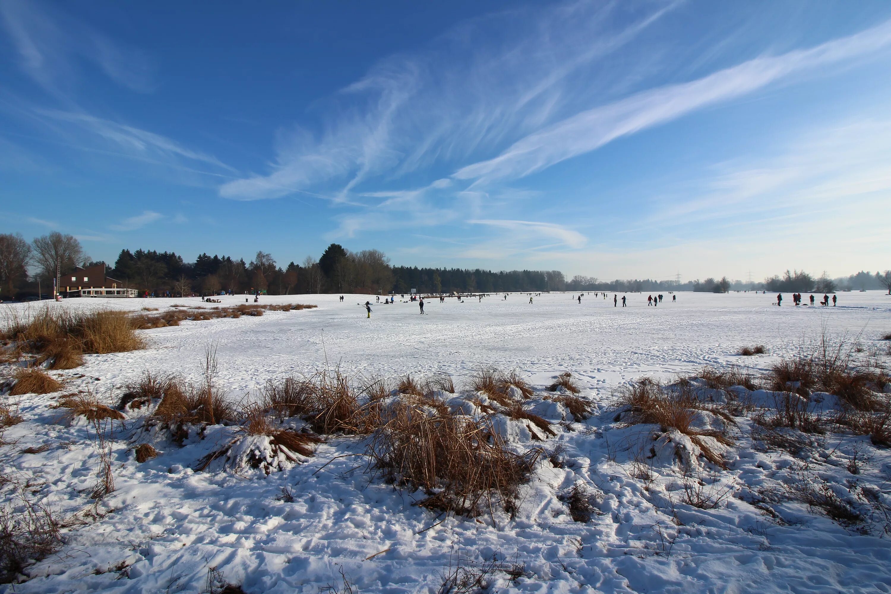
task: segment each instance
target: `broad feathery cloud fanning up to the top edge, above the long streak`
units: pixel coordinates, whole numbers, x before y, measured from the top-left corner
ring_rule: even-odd
[[[375,177],[491,152],[588,101],[579,79],[674,4],[634,12],[576,2],[472,20],[380,61],[331,98],[321,132],[282,131],[272,172],[225,183],[220,194],[265,199],[324,187],[339,201]]]

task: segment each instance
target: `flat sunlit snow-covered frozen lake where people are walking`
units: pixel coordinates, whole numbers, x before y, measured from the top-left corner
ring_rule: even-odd
[[[577,294],[576,294],[577,295]],[[262,297],[261,303],[304,303],[318,309],[266,312],[237,320],[185,321],[179,327],[147,330],[151,349],[91,355],[90,370],[116,382],[144,369],[198,374],[205,346],[214,344],[228,387],[252,390],[267,378],[340,365],[348,375],[446,371],[456,379],[480,366],[516,368],[545,383],[570,370],[585,387],[609,393],[618,383],[642,376],[674,376],[703,365],[738,363],[764,367],[770,357],[737,356],[741,346],[768,346],[789,353],[817,338],[825,326],[835,335],[874,340],[891,331],[891,297],[881,291],[838,293],[838,305],[781,307],[774,294],[679,293],[648,306],[648,294],[625,294],[627,306],[613,306],[589,294],[579,304],[568,293],[529,298],[511,294],[383,305],[368,295],[290,295]],[[819,301],[821,296],[817,296]],[[244,296],[220,297],[217,306],[239,305]],[[364,304],[372,301],[372,318]],[[253,303],[253,297],[250,299]],[[61,306],[138,310],[145,306],[203,305],[199,297],[153,299],[70,299]],[[13,305],[32,310],[40,304]],[[214,305],[208,305],[214,306]],[[2,306],[0,306],[2,307]]]

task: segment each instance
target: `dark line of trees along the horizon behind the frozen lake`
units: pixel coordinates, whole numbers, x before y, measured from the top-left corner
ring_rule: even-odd
[[[52,232],[28,242],[20,234],[0,234],[0,297],[24,298],[52,291],[56,262],[62,275],[76,265],[106,264],[93,262],[78,240],[71,235]],[[122,249],[113,265],[106,264],[106,274],[129,289],[160,295],[214,295],[261,292],[273,295],[303,293],[405,294],[411,289],[421,293],[502,293],[541,291],[610,291],[616,293],[648,291],[704,291],[723,293],[732,290],[768,290],[771,292],[832,292],[837,289],[888,289],[891,273],[856,273],[830,279],[825,274],[814,277],[802,271],[787,271],[762,282],[731,281],[708,278],[678,283],[674,280],[611,280],[576,275],[567,279],[557,270],[513,270],[492,272],[481,269],[418,268],[394,266],[377,249],[349,251],[337,243],[315,259],[307,256],[299,264],[282,265],[274,257],[258,251],[252,260],[231,256],[200,254],[186,262],[174,252]]]

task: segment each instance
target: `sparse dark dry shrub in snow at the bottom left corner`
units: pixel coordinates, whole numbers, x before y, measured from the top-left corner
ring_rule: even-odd
[[[10,583],[26,566],[61,546],[59,522],[49,510],[20,495],[18,505],[0,508],[0,583]]]

